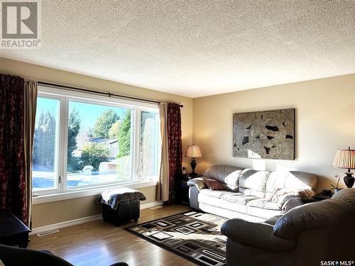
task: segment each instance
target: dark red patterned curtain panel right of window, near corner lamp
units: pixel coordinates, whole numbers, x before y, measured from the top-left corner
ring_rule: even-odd
[[[181,174],[182,141],[180,105],[168,103],[169,204],[175,203],[175,178]]]

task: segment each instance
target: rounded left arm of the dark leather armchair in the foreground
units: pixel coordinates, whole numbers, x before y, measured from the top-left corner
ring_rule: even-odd
[[[295,240],[280,238],[273,233],[273,226],[234,218],[223,223],[221,232],[231,240],[255,248],[272,251],[288,251],[295,248]]]

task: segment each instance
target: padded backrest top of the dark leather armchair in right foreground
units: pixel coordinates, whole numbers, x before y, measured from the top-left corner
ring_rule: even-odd
[[[297,239],[307,228],[328,228],[354,212],[351,204],[340,199],[327,199],[297,206],[281,216],[273,232],[282,238]]]

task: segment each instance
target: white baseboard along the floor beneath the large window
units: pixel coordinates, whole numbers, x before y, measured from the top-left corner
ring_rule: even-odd
[[[148,209],[148,208],[151,208],[154,206],[160,206],[160,205],[163,205],[163,201],[154,201],[154,202],[147,203],[147,204],[141,204],[140,209],[143,210],[143,209]],[[87,217],[78,218],[78,219],[74,219],[74,220],[70,220],[70,221],[64,221],[61,223],[53,223],[48,226],[40,226],[40,227],[33,228],[30,235],[35,235],[35,234],[43,233],[43,232],[50,231],[50,230],[65,228],[68,226],[76,226],[80,223],[88,223],[90,221],[97,221],[100,219],[102,219],[102,214],[87,216]]]

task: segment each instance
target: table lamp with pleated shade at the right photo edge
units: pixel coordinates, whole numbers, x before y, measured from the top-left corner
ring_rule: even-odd
[[[345,168],[348,170],[346,176],[344,177],[344,183],[346,187],[353,187],[355,178],[352,176],[351,169],[355,169],[355,150],[349,148],[340,148],[337,150],[337,155],[333,162],[334,167]]]

